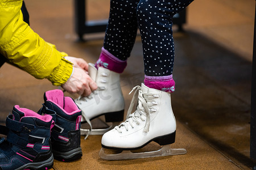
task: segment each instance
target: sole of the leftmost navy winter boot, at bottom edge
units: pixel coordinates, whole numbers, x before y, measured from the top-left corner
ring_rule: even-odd
[[[42,162],[27,163],[15,170],[20,170],[20,169],[46,170],[46,169],[51,169],[52,166],[53,166],[53,155],[51,155],[49,159],[44,160]]]

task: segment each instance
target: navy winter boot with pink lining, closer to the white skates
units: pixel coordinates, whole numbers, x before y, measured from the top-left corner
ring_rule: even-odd
[[[44,93],[44,104],[39,114],[50,114],[55,121],[51,142],[54,159],[70,162],[80,159],[81,111],[71,97],[63,91],[51,90]]]

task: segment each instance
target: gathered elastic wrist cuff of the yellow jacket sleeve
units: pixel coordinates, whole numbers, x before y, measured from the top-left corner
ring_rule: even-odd
[[[67,82],[72,73],[72,63],[61,57],[60,65],[52,71],[47,79],[52,82],[53,86],[61,86],[61,84]]]

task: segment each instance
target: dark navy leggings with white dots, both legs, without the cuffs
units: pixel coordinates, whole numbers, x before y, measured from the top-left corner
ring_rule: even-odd
[[[104,48],[121,60],[133,49],[137,28],[141,32],[144,73],[172,74],[174,40],[172,17],[193,0],[111,0]]]

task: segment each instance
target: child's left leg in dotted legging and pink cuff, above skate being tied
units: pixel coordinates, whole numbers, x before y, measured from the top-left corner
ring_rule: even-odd
[[[136,8],[139,0],[110,1],[109,23],[97,67],[122,73],[137,35]]]

